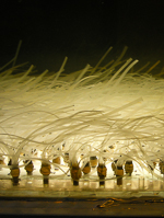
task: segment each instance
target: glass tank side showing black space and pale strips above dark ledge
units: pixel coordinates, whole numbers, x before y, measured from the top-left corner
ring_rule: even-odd
[[[0,196],[163,196],[163,7],[1,2]]]

